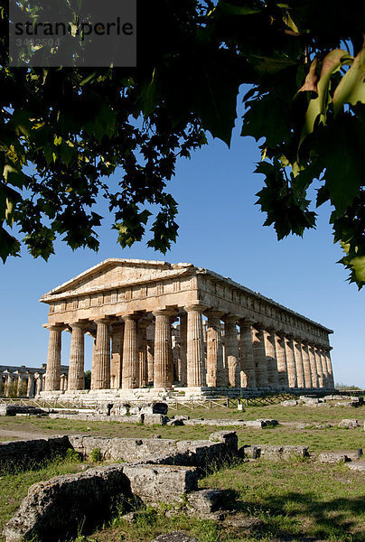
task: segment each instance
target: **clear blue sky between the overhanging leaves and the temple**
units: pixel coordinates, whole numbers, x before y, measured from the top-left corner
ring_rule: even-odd
[[[218,140],[182,159],[170,184],[179,202],[180,237],[165,256],[146,248],[145,241],[122,250],[117,232],[106,218],[99,230],[98,253],[72,252],[57,244],[48,263],[8,259],[0,267],[0,365],[39,367],[46,361],[49,332],[47,305],[39,298],[51,288],[108,257],[191,262],[230,276],[298,313],[334,330],[332,363],[336,382],[365,388],[363,335],[365,290],[346,282],[346,271],[335,262],[341,249],[332,242],[329,207],[319,210],[317,229],[304,238],[276,240],[275,231],[262,226],[265,216],[255,196],[262,177],[253,173],[260,155],[252,138],[233,137],[231,148]],[[100,214],[107,214],[102,202]],[[70,333],[62,333],[62,363],[68,363]],[[90,368],[91,341],[87,340],[86,366]]]

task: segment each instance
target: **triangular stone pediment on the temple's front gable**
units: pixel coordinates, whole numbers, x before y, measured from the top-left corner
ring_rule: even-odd
[[[111,288],[148,283],[180,276],[192,270],[192,264],[169,264],[168,262],[109,258],[90,267],[66,283],[42,295],[40,301],[49,303],[58,299],[89,294]]]

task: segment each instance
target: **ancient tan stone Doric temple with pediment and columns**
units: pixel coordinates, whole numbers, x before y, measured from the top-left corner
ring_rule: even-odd
[[[85,334],[94,341],[90,393],[333,388],[331,330],[192,264],[109,258],[40,301],[50,306],[43,393],[62,391],[65,330],[69,395],[85,393]]]

